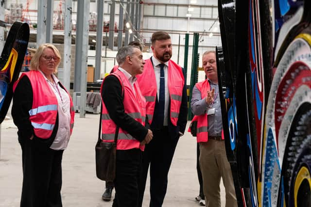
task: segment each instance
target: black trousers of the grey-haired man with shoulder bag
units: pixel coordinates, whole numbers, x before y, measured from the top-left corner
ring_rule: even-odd
[[[116,195],[113,207],[138,207],[138,178],[141,173],[140,149],[117,150]]]

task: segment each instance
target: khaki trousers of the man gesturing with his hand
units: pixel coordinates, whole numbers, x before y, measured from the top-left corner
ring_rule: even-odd
[[[207,207],[221,207],[220,178],[225,186],[225,207],[238,207],[231,167],[225,153],[225,141],[200,143],[200,167]]]

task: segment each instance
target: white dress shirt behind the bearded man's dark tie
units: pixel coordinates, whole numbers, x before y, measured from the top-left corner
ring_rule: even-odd
[[[154,64],[155,69],[155,80],[156,80],[156,93],[157,93],[157,100],[159,101],[159,91],[160,91],[160,61],[158,61],[154,56],[152,56],[152,62]],[[170,93],[168,87],[168,70],[169,70],[169,62],[164,63],[164,86],[165,86],[165,102],[164,102],[164,123],[163,126],[168,126],[168,111],[169,111],[169,100],[170,100]]]

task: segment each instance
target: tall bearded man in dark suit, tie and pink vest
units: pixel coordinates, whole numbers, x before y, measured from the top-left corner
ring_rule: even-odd
[[[154,135],[143,153],[139,202],[141,206],[150,165],[150,207],[161,207],[175,147],[187,124],[187,90],[182,68],[170,60],[170,35],[155,32],[151,42],[153,57],[145,60],[144,71],[137,77]]]

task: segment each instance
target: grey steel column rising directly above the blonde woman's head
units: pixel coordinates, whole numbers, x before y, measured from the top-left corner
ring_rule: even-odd
[[[38,20],[37,20],[37,44],[38,48],[43,43],[46,43],[46,16],[47,16],[47,0],[38,0]]]

